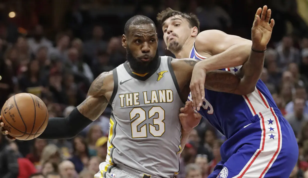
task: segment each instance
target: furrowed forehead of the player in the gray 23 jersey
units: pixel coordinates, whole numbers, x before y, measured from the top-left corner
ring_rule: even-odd
[[[129,27],[130,36],[155,36],[156,29],[153,24],[131,25]]]

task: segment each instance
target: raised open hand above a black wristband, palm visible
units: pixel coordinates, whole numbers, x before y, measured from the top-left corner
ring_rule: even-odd
[[[255,50],[266,50],[266,45],[270,41],[273,27],[275,25],[274,19],[270,20],[271,13],[272,11],[267,9],[267,6],[263,6],[263,9],[260,7],[257,10],[253,26],[251,28],[252,48]]]

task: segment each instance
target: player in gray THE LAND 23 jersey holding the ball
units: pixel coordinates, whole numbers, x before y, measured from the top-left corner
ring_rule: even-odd
[[[253,29],[260,19],[256,19]],[[255,82],[261,75],[264,53],[259,53],[270,40],[267,35],[256,36],[247,65],[245,80]],[[255,36],[252,33],[252,36]],[[265,42],[261,42],[261,39]],[[190,117],[181,125],[178,115],[189,94],[189,81],[195,59],[174,60],[157,53],[156,27],[145,16],[128,20],[122,36],[127,50],[127,62],[93,81],[88,96],[66,118],[49,118],[41,139],[65,139],[77,135],[97,119],[110,103],[112,114],[106,162],[99,165],[95,177],[146,178],[174,177],[179,171],[179,156],[189,132],[200,118]],[[263,59],[263,60],[262,60]],[[200,61],[202,66],[203,61]],[[246,73],[247,71],[247,73]],[[220,78],[229,77],[233,88],[219,87]],[[248,94],[242,76],[228,71],[207,73],[206,88],[221,92]],[[208,83],[210,85],[208,85]],[[3,126],[3,122],[0,126]],[[8,134],[7,131],[2,133]]]

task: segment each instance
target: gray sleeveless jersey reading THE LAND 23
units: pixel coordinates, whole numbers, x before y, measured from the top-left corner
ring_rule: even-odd
[[[127,62],[113,70],[108,154],[105,172],[124,164],[141,172],[173,177],[179,172],[181,139],[179,86],[171,57],[140,77]]]

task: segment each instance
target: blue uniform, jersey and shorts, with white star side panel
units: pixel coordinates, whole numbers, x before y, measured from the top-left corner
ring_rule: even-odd
[[[189,57],[205,59],[194,47]],[[221,70],[236,72],[240,68]],[[199,113],[227,138],[220,150],[222,160],[209,178],[290,176],[298,160],[297,141],[261,80],[254,92],[245,96],[205,89]]]

